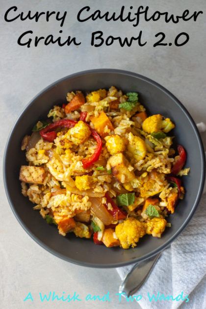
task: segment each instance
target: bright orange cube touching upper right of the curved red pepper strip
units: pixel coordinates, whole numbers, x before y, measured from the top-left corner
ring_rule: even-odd
[[[114,130],[114,127],[113,127],[111,121],[109,120],[109,118],[107,117],[107,115],[104,113],[103,110],[99,113],[98,117],[92,116],[92,117],[90,117],[90,119],[91,119],[91,122],[93,123],[96,131],[102,137],[107,136],[110,131]]]

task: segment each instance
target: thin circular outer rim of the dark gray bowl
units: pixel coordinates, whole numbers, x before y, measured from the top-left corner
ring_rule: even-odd
[[[8,193],[8,184],[7,184],[7,179],[6,179],[6,159],[7,159],[7,152],[8,152],[8,147],[10,144],[10,139],[13,135],[13,132],[15,130],[15,127],[17,125],[17,123],[20,121],[21,117],[23,116],[23,114],[26,112],[27,108],[40,96],[42,96],[45,92],[47,92],[49,89],[53,88],[56,86],[56,84],[59,84],[60,82],[66,80],[66,79],[71,79],[73,77],[79,77],[82,75],[87,75],[87,74],[99,74],[99,73],[117,73],[117,74],[122,74],[122,75],[127,75],[127,76],[132,76],[132,77],[137,77],[139,79],[142,79],[152,85],[154,85],[156,88],[158,88],[159,90],[161,90],[162,92],[164,92],[165,94],[167,94],[173,101],[175,101],[180,109],[182,110],[182,112],[187,116],[190,125],[192,126],[197,141],[198,141],[198,145],[199,145],[199,149],[200,149],[200,155],[201,155],[201,164],[203,166],[202,169],[202,173],[200,175],[200,187],[199,190],[197,192],[196,195],[196,199],[194,202],[194,205],[192,206],[192,209],[189,213],[189,215],[187,216],[187,218],[184,220],[184,223],[181,225],[181,227],[173,234],[173,236],[171,236],[164,244],[162,244],[161,246],[159,246],[157,249],[151,251],[150,253],[144,255],[143,257],[140,258],[134,258],[130,261],[125,261],[125,262],[120,262],[120,263],[110,263],[110,264],[97,264],[97,263],[89,263],[89,262],[81,262],[78,261],[76,259],[73,258],[68,258],[62,254],[57,253],[56,251],[52,250],[49,246],[47,246],[45,243],[43,243],[38,237],[36,237],[30,230],[29,228],[27,228],[24,224],[24,222],[21,220],[20,216],[18,215],[18,212],[15,209],[15,206],[13,205],[11,198],[9,196]],[[27,234],[35,241],[37,242],[42,248],[46,249],[48,252],[52,253],[54,256],[58,257],[58,258],[62,258],[63,260],[66,260],[68,262],[80,265],[80,266],[87,266],[87,267],[94,267],[94,268],[113,268],[113,267],[122,267],[122,266],[126,266],[126,265],[130,265],[133,263],[137,263],[140,261],[143,261],[145,259],[151,258],[154,255],[158,254],[159,252],[161,252],[162,250],[164,250],[165,248],[167,248],[178,236],[179,234],[185,229],[185,227],[187,226],[187,224],[189,223],[189,221],[191,220],[192,216],[194,215],[194,212],[197,209],[197,206],[200,202],[202,193],[203,193],[203,189],[204,189],[204,184],[205,184],[205,174],[206,174],[206,166],[205,166],[205,151],[204,151],[204,146],[203,146],[203,142],[200,136],[200,132],[193,120],[193,118],[190,116],[189,112],[187,111],[187,109],[183,106],[183,104],[169,91],[167,90],[165,87],[163,87],[162,85],[160,85],[159,83],[155,82],[154,80],[142,76],[140,74],[134,73],[134,72],[130,72],[130,71],[126,71],[126,70],[119,70],[119,69],[91,69],[91,70],[85,70],[85,71],[79,71],[77,73],[59,78],[58,80],[52,82],[50,85],[48,85],[47,87],[45,87],[43,90],[41,90],[36,96],[34,96],[29,103],[27,103],[27,105],[25,106],[25,108],[21,111],[21,113],[19,114],[17,120],[15,121],[9,135],[7,138],[7,142],[6,142],[6,146],[5,146],[5,150],[4,150],[4,156],[3,156],[3,182],[4,182],[4,188],[5,188],[5,192],[6,192],[6,196],[9,202],[9,205],[14,213],[14,215],[16,216],[17,220],[19,221],[20,225],[23,227],[23,229],[27,232]]]

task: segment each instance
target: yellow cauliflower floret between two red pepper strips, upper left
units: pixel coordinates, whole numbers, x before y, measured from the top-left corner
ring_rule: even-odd
[[[90,134],[91,131],[89,127],[80,120],[72,129],[69,129],[65,137],[72,141],[75,145],[80,145],[88,139]]]

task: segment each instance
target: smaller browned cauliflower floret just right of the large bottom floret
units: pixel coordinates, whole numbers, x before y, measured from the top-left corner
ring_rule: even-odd
[[[152,234],[154,237],[161,237],[164,232],[167,221],[163,218],[153,218],[145,221],[145,228],[147,234]]]

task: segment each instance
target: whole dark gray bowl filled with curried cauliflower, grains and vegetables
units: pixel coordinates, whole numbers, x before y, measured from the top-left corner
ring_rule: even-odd
[[[90,267],[166,248],[194,214],[204,181],[203,145],[187,110],[159,84],[122,70],[79,72],[44,89],[4,154],[7,197],[26,232]]]

